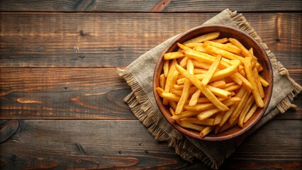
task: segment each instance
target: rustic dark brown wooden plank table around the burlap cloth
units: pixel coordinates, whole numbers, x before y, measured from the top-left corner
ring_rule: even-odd
[[[243,13],[302,84],[301,0],[1,0],[0,168],[208,169],[150,135],[124,103],[130,87],[116,68],[225,8]],[[222,169],[301,169],[301,100]]]

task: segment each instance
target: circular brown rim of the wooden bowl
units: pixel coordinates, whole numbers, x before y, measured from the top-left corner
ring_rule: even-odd
[[[169,50],[171,50],[171,48],[177,43],[179,42],[179,38],[182,38],[182,37],[185,37],[186,35],[189,35],[190,33],[193,33],[195,32],[196,30],[199,30],[199,29],[203,29],[203,28],[211,28],[211,27],[216,27],[216,28],[226,28],[226,29],[229,29],[229,30],[235,30],[237,32],[240,32],[242,33],[245,37],[249,38],[250,40],[252,40],[252,42],[254,42],[257,46],[259,46],[259,49],[261,50],[261,52],[264,54],[263,57],[266,58],[267,60],[267,67],[269,69],[269,86],[271,86],[269,88],[269,93],[267,94],[267,102],[264,103],[264,107],[263,108],[257,108],[258,109],[262,109],[260,111],[260,113],[258,113],[257,115],[257,118],[255,118],[255,120],[250,123],[250,125],[248,125],[246,128],[242,128],[242,130],[238,130],[237,132],[235,133],[232,133],[232,134],[229,134],[229,135],[225,135],[225,136],[206,136],[206,137],[200,137],[199,135],[196,135],[194,133],[189,133],[187,129],[185,128],[182,128],[180,125],[178,125],[175,120],[172,120],[171,118],[167,117],[166,114],[164,114],[163,112],[165,112],[164,110],[164,107],[160,107],[158,106],[158,102],[157,101],[161,101],[160,99],[160,96],[157,94],[157,91],[156,91],[156,87],[157,87],[157,83],[155,81],[155,79],[157,78],[158,74],[157,74],[157,69],[159,69],[161,63],[162,63],[162,60],[163,60],[163,57],[164,57],[164,54],[169,52]],[[251,35],[249,35],[248,33],[245,33],[245,31],[243,30],[240,30],[238,28],[235,28],[235,27],[232,27],[232,26],[226,26],[226,25],[222,25],[222,24],[204,24],[204,25],[201,25],[201,26],[196,26],[194,28],[191,28],[189,30],[186,30],[184,33],[181,33],[177,36],[177,38],[175,38],[174,40],[172,40],[172,42],[169,43],[169,45],[167,45],[167,47],[164,48],[164,50],[162,51],[161,55],[160,55],[160,58],[157,60],[157,63],[155,65],[155,70],[154,70],[154,74],[153,74],[153,79],[152,79],[152,89],[153,89],[153,95],[155,97],[155,102],[157,103],[157,106],[158,108],[160,109],[160,113],[162,114],[162,116],[165,118],[165,120],[167,120],[167,122],[172,125],[173,128],[177,129],[179,132],[181,132],[181,134],[184,134],[186,136],[189,136],[189,137],[193,137],[197,140],[204,140],[204,141],[223,141],[223,140],[230,140],[230,139],[233,139],[237,136],[240,136],[242,134],[244,134],[245,132],[249,131],[252,127],[254,127],[258,122],[259,120],[263,117],[265,111],[267,111],[267,107],[269,106],[269,102],[271,101],[271,98],[272,98],[272,89],[273,89],[273,82],[274,82],[274,77],[273,77],[273,71],[272,71],[272,63],[271,61],[269,60],[269,57],[267,55],[267,52],[264,50],[264,48],[262,47],[262,45],[260,45],[260,43],[255,40],[255,38],[252,38]],[[193,134],[193,135],[192,135]]]

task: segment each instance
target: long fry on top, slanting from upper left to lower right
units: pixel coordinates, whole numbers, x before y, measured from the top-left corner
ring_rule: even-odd
[[[194,75],[187,72],[184,68],[180,67],[179,64],[175,64],[175,67],[177,69],[177,72],[184,75],[186,79],[189,79],[194,86],[196,86],[199,90],[201,90],[201,93],[203,93],[204,96],[206,96],[217,108],[219,108],[221,111],[228,111],[228,106],[225,106],[223,103],[218,101],[218,98],[206,87],[194,77]]]

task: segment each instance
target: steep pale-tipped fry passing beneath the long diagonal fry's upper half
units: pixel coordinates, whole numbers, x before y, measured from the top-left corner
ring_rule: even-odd
[[[191,60],[188,60],[186,64],[186,69],[188,69],[189,74],[194,74],[194,65]],[[186,79],[186,81],[184,81],[184,89],[182,90],[181,97],[179,99],[179,102],[177,103],[177,109],[175,111],[175,114],[179,115],[183,111],[184,104],[186,103],[186,100],[189,97],[190,88],[191,88],[191,81],[189,81],[189,79]]]

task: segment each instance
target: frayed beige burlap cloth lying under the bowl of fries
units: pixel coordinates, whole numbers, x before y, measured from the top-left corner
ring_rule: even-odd
[[[293,101],[294,96],[300,93],[301,86],[296,84],[296,82],[289,77],[289,72],[280,62],[276,61],[274,54],[269,51],[267,45],[262,42],[242,14],[237,14],[236,12],[225,9],[217,16],[206,21],[206,23],[225,24],[244,30],[260,42],[272,62],[274,70],[272,100],[270,101],[267,112],[264,114],[263,118],[246,134],[236,137],[233,140],[226,140],[223,142],[194,140],[191,137],[181,135],[179,131],[174,130],[161,115],[152,93],[152,76],[155,64],[164,50],[164,47],[169,45],[177,35],[141,55],[125,69],[118,69],[118,72],[132,89],[132,92],[125,97],[125,102],[128,103],[128,106],[134,115],[145,125],[156,140],[166,141],[168,145],[174,147],[175,152],[186,161],[191,162],[194,157],[196,157],[201,159],[201,161],[208,166],[211,166],[211,168],[218,169],[219,166],[223,164],[223,161],[235,151],[247,135],[250,135],[264,125],[264,123],[267,123],[267,121],[274,118],[275,115],[284,113],[291,107],[296,107],[291,102]]]

